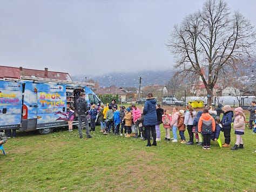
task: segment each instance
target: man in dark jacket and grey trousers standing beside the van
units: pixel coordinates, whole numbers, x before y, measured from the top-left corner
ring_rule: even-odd
[[[83,133],[82,133],[82,121],[85,123],[86,127],[86,134],[87,138],[92,138],[92,136],[89,133],[89,124],[88,124],[88,107],[87,107],[87,101],[85,100],[85,93],[81,92],[80,97],[76,101],[76,112],[78,115],[78,132],[80,139],[83,139]]]

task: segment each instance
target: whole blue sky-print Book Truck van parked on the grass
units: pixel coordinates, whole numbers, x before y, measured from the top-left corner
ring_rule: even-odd
[[[89,109],[100,104],[87,85],[91,84],[29,77],[0,80],[0,129],[38,129],[40,134],[48,134],[56,127],[68,126],[66,113],[75,107],[80,92],[86,93]],[[76,119],[73,125],[78,125]]]

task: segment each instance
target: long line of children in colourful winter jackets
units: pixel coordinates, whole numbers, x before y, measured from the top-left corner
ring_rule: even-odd
[[[120,134],[121,136],[124,134],[126,137],[132,136],[134,138],[141,136],[145,140],[146,131],[143,127],[143,115],[140,109],[135,105],[127,108],[121,106],[119,110],[116,107],[115,102],[100,107],[100,132],[104,134],[112,132],[114,135]],[[235,114],[233,115],[233,111],[229,105],[224,106],[220,111],[220,113],[224,113],[223,118],[220,120],[220,116],[217,116],[217,111],[212,110],[210,106],[206,106],[203,111],[198,112],[194,111],[191,105],[187,105],[186,111],[183,109],[179,110],[178,107],[173,107],[172,114],[169,110],[163,110],[160,105],[157,107],[158,125],[163,123],[165,131],[164,140],[178,142],[178,131],[180,143],[193,145],[195,135],[197,145],[202,146],[203,149],[211,148],[211,140],[217,141],[221,147],[230,147],[232,122],[235,134],[237,135],[237,141],[231,149],[244,148],[241,135],[244,134],[246,118],[241,107],[235,108],[234,112]],[[159,122],[159,119],[161,119],[161,122]],[[160,141],[158,125],[156,125],[157,141]],[[184,133],[186,129],[189,135],[189,141],[186,141],[185,138]],[[170,131],[172,131],[173,138],[170,136]],[[224,132],[224,143],[221,143],[219,138],[221,131]]]

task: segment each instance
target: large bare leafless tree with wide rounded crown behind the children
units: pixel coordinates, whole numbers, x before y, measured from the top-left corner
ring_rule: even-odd
[[[238,11],[231,15],[225,1],[206,0],[201,11],[174,26],[167,47],[174,54],[178,73],[189,83],[200,77],[212,95],[219,78],[234,76],[249,61],[255,35],[250,21]],[[211,104],[212,98],[207,102]]]

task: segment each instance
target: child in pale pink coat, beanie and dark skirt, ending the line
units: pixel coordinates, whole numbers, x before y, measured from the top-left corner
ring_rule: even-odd
[[[235,114],[234,114],[234,134],[237,135],[237,141],[235,142],[234,147],[231,148],[231,150],[237,150],[237,149],[243,149],[244,143],[242,142],[242,135],[245,134],[245,114],[243,113],[243,110],[241,107],[235,108]],[[240,145],[239,145],[240,144]],[[239,147],[238,147],[239,145]]]

